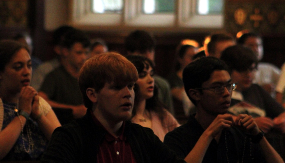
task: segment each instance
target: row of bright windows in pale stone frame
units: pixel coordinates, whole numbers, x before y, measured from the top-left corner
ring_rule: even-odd
[[[87,30],[150,27],[179,32],[223,27],[223,0],[70,0],[69,8],[69,24]]]

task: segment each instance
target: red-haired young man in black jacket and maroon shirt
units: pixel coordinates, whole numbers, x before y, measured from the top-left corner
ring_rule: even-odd
[[[87,113],[54,131],[42,163],[185,163],[151,129],[128,121],[137,80],[118,53],[89,59],[79,75]]]

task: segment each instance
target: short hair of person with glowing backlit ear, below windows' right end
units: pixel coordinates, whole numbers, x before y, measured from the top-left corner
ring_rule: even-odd
[[[209,53],[214,54],[216,52],[216,44],[222,41],[235,41],[234,37],[227,33],[216,33],[212,34],[210,42],[207,45]]]

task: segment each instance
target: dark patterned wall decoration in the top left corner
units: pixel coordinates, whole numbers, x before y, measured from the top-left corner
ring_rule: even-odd
[[[0,27],[26,27],[27,7],[27,0],[0,0]]]

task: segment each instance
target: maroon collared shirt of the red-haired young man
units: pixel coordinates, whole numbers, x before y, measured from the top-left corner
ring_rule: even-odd
[[[91,115],[95,124],[106,130],[95,115],[93,113]],[[117,138],[106,130],[106,135],[100,143],[97,153],[97,163],[136,163],[135,156],[124,135],[125,121],[120,130],[122,132]]]

